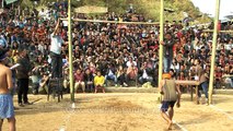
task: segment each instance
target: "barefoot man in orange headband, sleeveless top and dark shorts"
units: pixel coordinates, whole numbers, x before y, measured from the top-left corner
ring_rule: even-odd
[[[179,87],[176,86],[175,80],[171,79],[170,73],[163,74],[163,81],[160,83],[160,93],[163,95],[161,115],[164,120],[168,123],[168,130],[172,130],[172,119],[174,116],[174,105],[179,107],[180,99],[180,91]],[[166,114],[168,111],[168,115]]]

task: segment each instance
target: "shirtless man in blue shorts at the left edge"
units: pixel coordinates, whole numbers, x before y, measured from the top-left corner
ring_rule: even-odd
[[[13,99],[10,94],[13,87],[12,72],[4,66],[5,52],[0,49],[0,131],[4,118],[8,119],[10,131],[15,131]]]

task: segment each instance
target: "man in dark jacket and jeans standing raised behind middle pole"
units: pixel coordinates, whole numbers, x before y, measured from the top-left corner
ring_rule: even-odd
[[[174,46],[174,38],[172,37],[172,33],[167,32],[165,34],[165,40],[162,41],[162,45],[164,46],[164,50],[163,50],[163,64],[164,64],[164,72],[168,73],[171,66],[172,66],[172,61],[173,61],[173,46]]]

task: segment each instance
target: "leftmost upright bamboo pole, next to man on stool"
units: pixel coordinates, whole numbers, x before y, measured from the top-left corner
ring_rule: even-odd
[[[68,39],[69,39],[69,78],[70,78],[70,97],[71,102],[74,103],[74,87],[73,87],[73,56],[72,56],[72,34],[71,34],[71,0],[68,0]]]

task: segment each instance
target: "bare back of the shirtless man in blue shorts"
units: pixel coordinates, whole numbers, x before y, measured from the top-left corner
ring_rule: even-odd
[[[0,94],[8,94],[9,90],[13,87],[11,70],[0,63]]]

